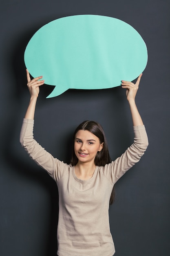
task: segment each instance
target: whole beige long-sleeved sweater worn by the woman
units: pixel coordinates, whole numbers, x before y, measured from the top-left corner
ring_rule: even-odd
[[[59,256],[113,256],[109,200],[113,185],[139,161],[148,146],[144,126],[134,127],[134,143],[121,157],[96,166],[90,180],[80,180],[74,166],[46,152],[33,138],[33,120],[24,119],[20,142],[30,157],[56,181],[59,191],[57,241]]]

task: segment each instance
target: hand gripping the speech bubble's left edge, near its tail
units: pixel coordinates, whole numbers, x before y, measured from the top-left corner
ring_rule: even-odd
[[[31,80],[29,71],[26,70],[26,77],[27,77],[27,86],[29,88],[31,98],[38,98],[38,94],[40,92],[39,86],[44,84],[44,80],[39,81],[39,79],[42,79],[42,76],[35,77],[34,79]]]

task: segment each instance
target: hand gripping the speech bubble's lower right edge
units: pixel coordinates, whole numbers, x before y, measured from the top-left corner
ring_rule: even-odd
[[[127,97],[127,100],[129,102],[130,101],[135,101],[135,97],[136,97],[136,94],[137,94],[137,90],[139,88],[139,83],[140,83],[140,80],[141,80],[141,76],[142,76],[142,74],[139,75],[136,83],[121,80],[121,82],[122,82],[121,87],[127,89],[126,90],[126,97]]]

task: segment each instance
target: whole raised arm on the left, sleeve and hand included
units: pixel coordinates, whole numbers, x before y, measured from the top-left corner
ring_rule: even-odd
[[[57,181],[66,171],[68,171],[67,164],[54,158],[34,139],[33,136],[35,105],[40,91],[39,87],[44,84],[44,80],[39,81],[39,79],[42,79],[42,76],[38,76],[31,80],[28,70],[26,70],[26,76],[28,81],[27,86],[30,92],[30,102],[25,114],[25,119],[22,123],[20,143],[29,156]]]

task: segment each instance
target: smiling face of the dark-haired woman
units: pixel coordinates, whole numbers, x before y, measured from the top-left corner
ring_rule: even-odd
[[[74,150],[80,162],[91,162],[95,160],[98,151],[103,148],[99,138],[88,130],[79,130],[75,135]]]

